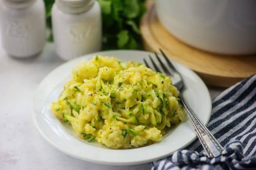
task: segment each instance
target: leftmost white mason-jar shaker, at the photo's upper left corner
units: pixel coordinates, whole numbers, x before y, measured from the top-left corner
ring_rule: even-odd
[[[39,54],[45,45],[45,4],[43,0],[1,0],[2,46],[14,57]]]

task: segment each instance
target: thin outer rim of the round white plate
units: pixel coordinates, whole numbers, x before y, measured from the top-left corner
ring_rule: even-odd
[[[175,151],[181,149],[181,148],[185,148],[186,146],[188,146],[189,144],[191,144],[193,141],[195,141],[195,139],[197,138],[197,136],[195,135],[194,137],[192,137],[190,139],[190,141],[188,143],[186,143],[185,145],[175,149],[173,152],[170,152],[170,153],[166,153],[166,154],[163,154],[159,157],[154,157],[154,158],[149,158],[149,159],[143,159],[143,160],[139,160],[139,161],[127,161],[127,162],[118,162],[118,161],[98,161],[98,160],[95,160],[95,159],[90,159],[89,157],[79,157],[79,155],[75,155],[73,154],[72,152],[68,152],[67,150],[61,148],[60,146],[58,146],[56,144],[56,142],[54,143],[54,141],[51,141],[50,139],[48,139],[47,135],[43,132],[42,128],[39,126],[38,122],[36,121],[36,111],[35,111],[35,99],[36,99],[36,94],[39,92],[40,90],[40,87],[41,87],[41,84],[42,82],[45,81],[45,79],[47,79],[49,77],[49,75],[51,75],[52,73],[54,73],[59,67],[61,66],[65,66],[67,65],[69,62],[71,61],[74,61],[74,60],[82,60],[86,57],[91,57],[93,55],[99,55],[99,53],[115,53],[117,51],[122,51],[124,53],[127,53],[127,52],[136,52],[136,53],[152,53],[150,51],[142,51],[142,50],[108,50],[108,51],[98,51],[98,52],[95,52],[95,53],[89,53],[89,54],[86,54],[86,55],[82,55],[80,57],[77,57],[73,60],[70,60],[70,61],[67,61],[63,64],[60,64],[59,66],[57,66],[56,68],[54,68],[52,71],[50,71],[50,73],[48,73],[42,80],[41,82],[38,84],[36,90],[34,91],[34,97],[33,97],[33,105],[32,105],[32,117],[33,117],[33,120],[34,120],[34,123],[36,125],[36,128],[39,130],[41,136],[43,137],[43,139],[45,139],[49,144],[51,144],[52,146],[54,146],[54,148],[56,148],[57,150],[67,154],[67,155],[70,155],[72,157],[75,157],[77,159],[80,159],[80,160],[84,160],[84,161],[89,161],[89,162],[92,162],[92,163],[99,163],[99,164],[103,164],[103,165],[136,165],[136,164],[141,164],[141,163],[149,163],[151,161],[156,161],[156,160],[159,160],[159,159],[162,159],[164,157],[168,157],[170,156],[172,153],[174,153]],[[153,53],[152,53],[153,54]],[[175,62],[175,61],[174,61]],[[207,96],[208,96],[208,99],[207,101],[209,102],[208,105],[209,105],[209,110],[207,112],[208,113],[208,117],[207,117],[207,120],[204,124],[208,124],[208,121],[211,117],[211,110],[212,110],[212,101],[211,101],[211,96],[210,96],[210,93],[208,91],[208,88],[206,86],[206,84],[203,82],[203,80],[194,72],[192,71],[190,68],[184,66],[183,64],[179,63],[179,62],[176,62],[178,63],[179,65],[181,65],[182,67],[185,67],[186,69],[188,69],[192,74],[193,76],[195,76],[198,80],[201,81],[202,85],[204,86],[204,88],[206,89],[206,92],[207,92]],[[188,121],[188,120],[187,120]]]

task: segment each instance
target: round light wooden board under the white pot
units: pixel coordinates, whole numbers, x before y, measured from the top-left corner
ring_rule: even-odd
[[[179,41],[157,19],[153,1],[147,2],[140,31],[147,51],[157,52],[161,48],[172,60],[195,71],[208,85],[229,87],[256,73],[255,55],[213,54]]]

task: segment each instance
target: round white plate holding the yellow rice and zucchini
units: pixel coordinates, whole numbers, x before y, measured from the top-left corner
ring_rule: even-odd
[[[110,149],[97,142],[88,143],[82,140],[72,127],[57,119],[50,112],[50,103],[56,101],[63,84],[71,77],[71,70],[81,60],[91,60],[93,55],[116,56],[121,61],[134,60],[143,63],[143,57],[148,57],[145,51],[103,51],[84,55],[57,67],[39,84],[34,96],[33,118],[36,127],[43,137],[58,150],[78,159],[109,165],[132,165],[146,163],[171,155],[174,151],[184,148],[195,138],[195,132],[189,121],[179,124],[163,136],[163,141],[132,149]],[[154,55],[154,54],[152,54]],[[211,98],[202,79],[185,66],[174,62],[181,73],[186,89],[183,94],[195,113],[206,124],[211,115]]]

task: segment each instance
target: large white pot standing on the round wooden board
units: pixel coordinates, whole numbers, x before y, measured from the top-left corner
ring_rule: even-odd
[[[256,0],[156,0],[156,11],[170,33],[198,49],[256,53]]]

